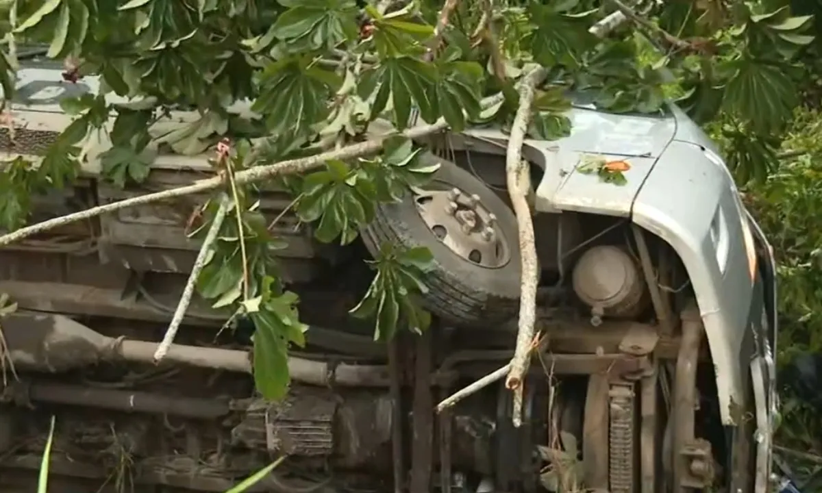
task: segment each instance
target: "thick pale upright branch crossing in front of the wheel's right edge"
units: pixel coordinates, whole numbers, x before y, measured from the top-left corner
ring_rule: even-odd
[[[538,68],[525,76],[520,83],[520,106],[511,126],[506,154],[506,184],[511,204],[514,206],[517,226],[520,230],[520,256],[522,259],[520,283],[520,320],[514,357],[511,358],[506,387],[515,392],[514,426],[522,422],[522,380],[528,368],[530,349],[537,318],[537,249],[533,239],[533,222],[529,196],[529,166],[522,159],[525,131],[532,117],[534,92],[538,81],[545,76],[545,69]],[[519,404],[519,405],[518,405]]]

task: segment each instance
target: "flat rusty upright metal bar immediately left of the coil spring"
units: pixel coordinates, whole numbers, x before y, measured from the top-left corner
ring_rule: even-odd
[[[582,435],[585,486],[608,489],[608,376],[594,374],[588,380]]]

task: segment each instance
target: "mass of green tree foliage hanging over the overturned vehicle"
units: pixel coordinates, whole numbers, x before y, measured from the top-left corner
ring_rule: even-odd
[[[443,12],[444,5],[455,9]],[[71,183],[95,132],[109,133],[112,147],[100,159],[104,177],[120,187],[149,176],[158,146],[200,154],[227,139],[231,157],[215,173],[226,177],[236,220],[224,224],[198,289],[256,325],[256,380],[269,397],[288,385],[287,348],[303,343],[305,326],[298,299],[279,282],[280,242],[259,211],[259,186],[237,185],[234,173],[362,141],[377,119],[394,131],[440,119],[456,131],[509,127],[516,81],[542,66],[530,136],[568,135],[571,104],[653,114],[677,99],[698,122],[722,122],[732,167],[764,177],[797,104],[797,53],[812,41],[809,16],[722,0],[630,7],[617,0],[7,0],[6,7],[15,13],[2,25],[7,47],[46,44],[48,57],[71,66],[67,79],[99,75],[104,91],[63,102],[75,120],[41,164],[4,166],[0,227],[25,223],[31,194]],[[589,31],[617,10],[630,17],[626,25],[604,38]],[[8,50],[0,57],[7,96],[16,65]],[[131,102],[114,104],[111,93]],[[169,112],[180,110],[196,118],[169,125]],[[401,200],[436,172],[419,153],[393,136],[379,155],[331,159],[282,185],[318,240],[345,244],[372,220],[376,203]],[[217,200],[203,206],[201,229],[216,207]],[[423,330],[430,318],[414,301],[426,289],[430,255],[400,250],[384,246],[353,311],[376,320],[379,338],[397,325]]]

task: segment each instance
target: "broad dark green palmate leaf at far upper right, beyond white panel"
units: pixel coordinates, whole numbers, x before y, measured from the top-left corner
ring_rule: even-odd
[[[791,67],[754,58],[741,58],[725,87],[724,104],[750,121],[754,131],[769,134],[783,128],[797,104]]]

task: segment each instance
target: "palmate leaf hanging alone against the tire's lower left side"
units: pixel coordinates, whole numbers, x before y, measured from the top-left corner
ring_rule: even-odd
[[[421,333],[431,325],[431,315],[419,306],[418,296],[427,293],[423,281],[431,269],[433,256],[427,248],[403,248],[384,243],[372,265],[376,276],[363,300],[350,313],[374,319],[374,340],[390,340],[398,325]]]

